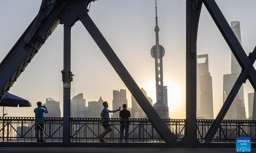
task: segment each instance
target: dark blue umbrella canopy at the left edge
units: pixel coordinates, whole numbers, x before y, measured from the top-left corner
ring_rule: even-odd
[[[31,107],[31,103],[28,100],[15,96],[7,92],[4,95],[2,101],[0,100],[0,106],[4,107]]]

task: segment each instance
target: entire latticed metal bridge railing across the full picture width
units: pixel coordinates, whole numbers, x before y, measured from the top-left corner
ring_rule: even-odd
[[[44,135],[47,142],[62,142],[62,118],[44,118]],[[100,118],[70,118],[71,142],[98,142],[104,129]],[[104,137],[107,142],[117,142],[120,138],[120,121],[110,119],[112,129]],[[123,120],[125,121],[125,120]],[[129,142],[164,142],[148,119],[130,119]],[[177,140],[186,135],[186,120],[163,119]],[[214,120],[197,120],[197,138],[203,141],[204,135]],[[36,141],[35,118],[33,117],[0,117],[0,141],[33,142]],[[235,142],[237,136],[250,136],[256,142],[256,121],[223,120],[212,142]],[[124,140],[124,138],[123,138]]]

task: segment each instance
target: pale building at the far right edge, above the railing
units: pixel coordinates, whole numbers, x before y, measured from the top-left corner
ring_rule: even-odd
[[[249,120],[256,120],[256,92],[248,93]]]

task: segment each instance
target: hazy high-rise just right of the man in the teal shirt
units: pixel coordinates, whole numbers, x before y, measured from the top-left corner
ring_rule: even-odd
[[[46,103],[43,104],[43,106],[46,106],[48,110],[48,113],[44,114],[44,117],[61,117],[59,101],[55,101],[52,98],[46,98]]]

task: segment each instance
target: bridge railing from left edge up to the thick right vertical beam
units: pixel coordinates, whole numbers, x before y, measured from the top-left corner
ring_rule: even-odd
[[[104,131],[101,120],[100,118],[70,118],[71,142],[98,142],[99,135]],[[185,135],[186,120],[163,120],[176,139],[181,140]],[[62,142],[62,118],[44,118],[44,121],[44,140]],[[119,141],[120,121],[122,119],[109,120],[112,132],[106,135],[104,140]],[[131,122],[129,142],[164,142],[148,119],[129,119],[129,121]],[[0,141],[36,141],[35,126],[34,117],[0,117]]]

